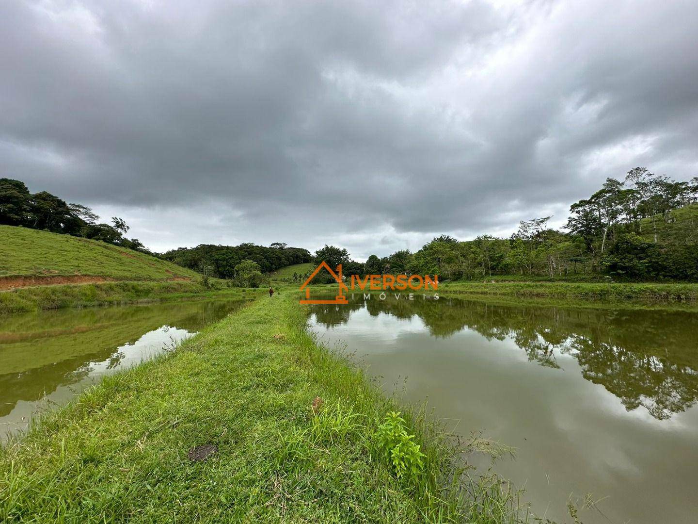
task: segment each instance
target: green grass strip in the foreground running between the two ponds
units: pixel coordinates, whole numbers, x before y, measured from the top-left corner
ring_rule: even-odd
[[[46,414],[1,452],[0,521],[514,522],[515,494],[461,476],[423,418],[387,432],[394,402],[305,322],[292,293],[260,298]],[[398,476],[401,430],[424,456]]]

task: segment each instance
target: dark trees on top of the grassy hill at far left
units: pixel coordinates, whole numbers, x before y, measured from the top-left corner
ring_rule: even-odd
[[[102,240],[150,254],[138,238],[124,236],[128,232],[124,220],[112,217],[112,225],[98,220],[84,205],[68,204],[47,191],[31,194],[24,182],[0,178],[0,224]]]

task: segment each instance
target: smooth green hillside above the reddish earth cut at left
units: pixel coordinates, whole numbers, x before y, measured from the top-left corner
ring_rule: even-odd
[[[0,226],[0,281],[7,282],[12,277],[30,277],[25,280],[32,284],[59,284],[81,282],[83,277],[165,281],[198,279],[200,275],[154,256],[106,242]],[[89,279],[83,278],[82,281],[89,282]]]

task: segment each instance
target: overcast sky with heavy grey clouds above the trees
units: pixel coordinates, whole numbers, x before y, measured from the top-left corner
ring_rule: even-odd
[[[356,259],[698,175],[698,2],[0,2],[0,177]]]

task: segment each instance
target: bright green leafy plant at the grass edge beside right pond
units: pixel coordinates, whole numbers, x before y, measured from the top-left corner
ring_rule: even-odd
[[[400,412],[388,412],[376,433],[378,449],[392,466],[393,472],[401,479],[415,477],[424,469],[424,453],[415,442],[415,435],[407,432],[405,419]]]

